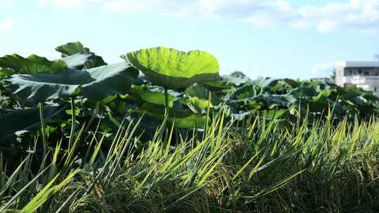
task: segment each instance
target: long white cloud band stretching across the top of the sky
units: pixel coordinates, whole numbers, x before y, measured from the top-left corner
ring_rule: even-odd
[[[4,0],[0,0],[4,1]],[[165,15],[204,15],[220,20],[251,22],[255,26],[285,25],[379,32],[379,0],[345,0],[321,6],[293,6],[289,0],[38,0],[65,8],[96,4],[108,11],[154,12]],[[295,0],[293,0],[295,1]],[[337,0],[334,0],[337,1]]]

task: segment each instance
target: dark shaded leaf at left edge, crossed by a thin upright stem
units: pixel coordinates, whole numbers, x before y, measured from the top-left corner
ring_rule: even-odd
[[[65,109],[66,104],[58,107],[44,107],[45,123],[50,123],[55,118],[59,118],[64,114]],[[11,111],[0,116],[0,141],[12,137],[15,132],[21,130],[33,131],[40,126],[39,107]]]

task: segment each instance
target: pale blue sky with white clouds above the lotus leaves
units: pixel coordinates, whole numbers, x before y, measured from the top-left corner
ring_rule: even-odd
[[[0,0],[0,55],[55,59],[69,41],[109,63],[166,46],[206,50],[223,74],[328,76],[378,53],[379,0]]]

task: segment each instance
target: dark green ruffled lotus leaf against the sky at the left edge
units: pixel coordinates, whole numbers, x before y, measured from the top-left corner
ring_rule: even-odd
[[[30,55],[25,58],[17,54],[0,57],[0,68],[13,71],[13,74],[55,73],[67,69],[67,64],[61,60],[50,61],[46,57]]]

